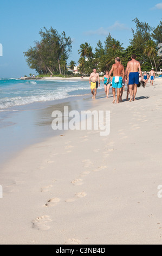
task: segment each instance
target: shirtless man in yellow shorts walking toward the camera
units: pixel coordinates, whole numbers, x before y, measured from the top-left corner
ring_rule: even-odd
[[[100,77],[99,74],[96,72],[96,69],[93,69],[93,72],[89,76],[89,83],[90,83],[90,89],[92,93],[92,99],[95,100],[96,93],[98,87],[100,87]]]

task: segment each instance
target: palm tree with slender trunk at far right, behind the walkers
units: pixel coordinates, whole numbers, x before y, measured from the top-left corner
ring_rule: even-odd
[[[148,58],[150,59],[150,62],[151,62],[151,57],[153,58],[155,70],[157,73],[157,65],[156,65],[155,59],[154,59],[154,56],[157,56],[157,45],[155,44],[154,41],[152,41],[152,40],[146,41],[146,44],[144,46],[144,54],[146,54],[148,56]],[[151,62],[151,65],[152,65],[152,62]],[[152,65],[152,67],[153,67],[153,65]]]

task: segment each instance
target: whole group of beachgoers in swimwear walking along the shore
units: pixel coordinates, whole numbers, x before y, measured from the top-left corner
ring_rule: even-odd
[[[113,76],[111,77],[113,73]],[[106,97],[109,95],[109,88],[112,84],[112,92],[113,92],[113,103],[119,103],[122,101],[122,93],[125,87],[125,83],[127,81],[127,100],[128,95],[130,95],[129,101],[134,101],[135,95],[137,94],[137,86],[139,84],[139,74],[141,77],[141,81],[146,83],[148,81],[148,75],[145,71],[144,76],[142,76],[140,63],[136,60],[136,55],[132,54],[131,60],[127,63],[126,70],[124,66],[120,62],[120,58],[115,58],[115,63],[112,65],[111,70],[108,72],[106,70],[106,74],[102,78],[102,82],[104,82]],[[154,70],[150,71],[151,84],[153,84],[153,80],[155,77]],[[96,90],[100,87],[100,77],[96,72],[96,69],[93,69],[93,72],[89,77],[90,89],[92,93],[92,99],[96,97]],[[117,99],[115,97],[115,90],[117,89]]]

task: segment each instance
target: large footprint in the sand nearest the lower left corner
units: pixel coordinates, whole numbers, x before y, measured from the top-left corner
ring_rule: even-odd
[[[51,221],[52,220],[47,215],[41,216],[41,217],[36,217],[35,220],[32,221],[32,223],[33,223],[32,228],[36,228],[36,229],[40,229],[40,230],[48,230],[50,228],[50,226],[47,224]]]

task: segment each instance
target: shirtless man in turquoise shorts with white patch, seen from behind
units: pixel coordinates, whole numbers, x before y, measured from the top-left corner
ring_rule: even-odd
[[[113,72],[113,80],[112,80],[112,90],[113,90],[113,103],[119,103],[119,97],[120,97],[120,88],[122,88],[122,83],[124,83],[125,78],[125,71],[124,66],[120,64],[120,58],[115,58],[115,64],[112,65],[111,71],[109,71],[108,79],[111,76]],[[115,89],[117,88],[117,100],[115,98]]]

